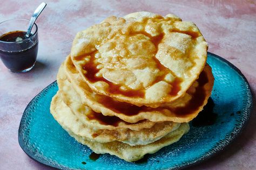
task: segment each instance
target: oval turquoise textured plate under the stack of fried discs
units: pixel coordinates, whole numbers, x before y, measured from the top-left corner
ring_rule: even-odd
[[[90,160],[90,148],[70,137],[50,114],[51,98],[58,90],[56,82],[26,107],[19,126],[19,145],[30,158],[60,169],[177,169],[204,161],[238,136],[252,109],[252,93],[240,70],[212,53],[208,53],[207,62],[215,77],[211,96],[215,114],[208,114],[215,121],[206,126],[194,126],[192,121],[190,131],[177,143],[149,155],[144,162],[126,162],[110,154]]]

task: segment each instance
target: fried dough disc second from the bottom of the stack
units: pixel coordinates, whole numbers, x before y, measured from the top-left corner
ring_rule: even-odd
[[[72,113],[71,109],[62,101],[60,93],[58,92],[52,99],[51,114],[56,121],[62,126],[68,126],[73,133],[77,136],[85,137],[91,141],[99,143],[106,143],[110,141],[122,141],[129,145],[146,145],[150,144],[166,134],[179,128],[179,123],[163,122],[156,123],[149,129],[142,129],[133,131],[130,129],[117,129],[117,130],[98,130],[98,123],[90,126],[90,122],[83,123],[79,118]]]

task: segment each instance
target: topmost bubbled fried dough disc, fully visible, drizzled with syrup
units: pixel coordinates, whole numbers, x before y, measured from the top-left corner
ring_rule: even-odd
[[[153,108],[183,96],[206,58],[207,43],[195,24],[150,12],[106,18],[77,33],[71,49],[93,91]]]

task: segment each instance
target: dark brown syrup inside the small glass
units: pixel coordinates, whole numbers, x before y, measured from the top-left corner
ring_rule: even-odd
[[[31,41],[22,42],[21,40],[26,39],[25,34],[25,31],[11,31],[0,37],[0,40],[5,42],[18,43],[20,41],[15,52],[0,50],[1,60],[4,65],[13,72],[31,68],[36,62],[38,40],[36,38],[36,41],[34,41],[31,38]]]

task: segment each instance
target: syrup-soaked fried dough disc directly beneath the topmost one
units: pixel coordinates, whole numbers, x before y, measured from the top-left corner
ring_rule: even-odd
[[[66,74],[62,75],[62,79],[66,80],[66,76],[69,77],[72,87],[79,94],[83,104],[88,105],[96,112],[102,112],[105,116],[117,116],[130,123],[136,123],[143,119],[152,122],[189,122],[198,115],[207,103],[214,81],[211,67],[206,65],[198,79],[199,82],[194,82],[183,97],[172,103],[162,105],[160,108],[137,107],[93,92],[80,77],[69,56],[61,69],[66,71]],[[58,76],[58,80],[61,80],[60,76]],[[65,82],[63,86],[69,86],[69,82]]]

